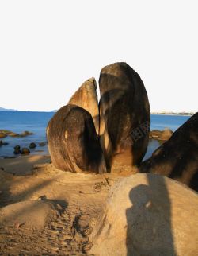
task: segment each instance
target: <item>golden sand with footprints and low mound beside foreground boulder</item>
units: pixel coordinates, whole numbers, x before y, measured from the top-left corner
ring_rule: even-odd
[[[120,175],[67,173],[48,162],[0,160],[0,255],[89,254],[93,223]]]

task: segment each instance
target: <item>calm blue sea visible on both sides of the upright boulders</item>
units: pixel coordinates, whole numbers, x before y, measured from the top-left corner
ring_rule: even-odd
[[[54,114],[53,112],[0,111],[0,130],[11,130],[17,134],[21,134],[24,130],[29,130],[34,133],[24,138],[2,138],[1,140],[8,142],[9,145],[0,146],[0,157],[12,157],[15,145],[29,147],[31,142],[35,142],[37,145],[39,142],[46,142],[45,129]],[[168,127],[174,131],[188,118],[188,116],[179,115],[151,114],[151,130],[163,130]],[[150,157],[158,146],[159,143],[157,141],[151,140],[144,159]],[[31,150],[31,153],[48,154],[48,146],[37,146],[36,149]]]

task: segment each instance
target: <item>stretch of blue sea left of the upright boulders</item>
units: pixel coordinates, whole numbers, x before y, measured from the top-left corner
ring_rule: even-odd
[[[53,116],[53,112],[25,112],[25,111],[0,111],[0,130],[11,130],[14,133],[21,134],[25,130],[31,131],[32,135],[23,138],[0,138],[9,145],[0,146],[0,157],[13,157],[13,147],[21,145],[29,147],[31,142],[38,145],[39,142],[46,142],[46,127]],[[38,152],[42,150],[42,152]],[[37,146],[31,149],[32,154],[48,154],[48,145]]]

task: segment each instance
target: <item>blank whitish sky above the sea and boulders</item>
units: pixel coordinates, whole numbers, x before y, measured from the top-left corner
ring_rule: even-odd
[[[51,111],[126,61],[151,111],[197,111],[197,1],[1,1],[0,107]]]

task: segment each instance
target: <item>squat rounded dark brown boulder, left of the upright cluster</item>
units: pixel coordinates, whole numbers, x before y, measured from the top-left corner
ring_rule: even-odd
[[[105,173],[105,158],[91,114],[67,105],[51,118],[47,128],[48,149],[56,168],[73,173]]]

